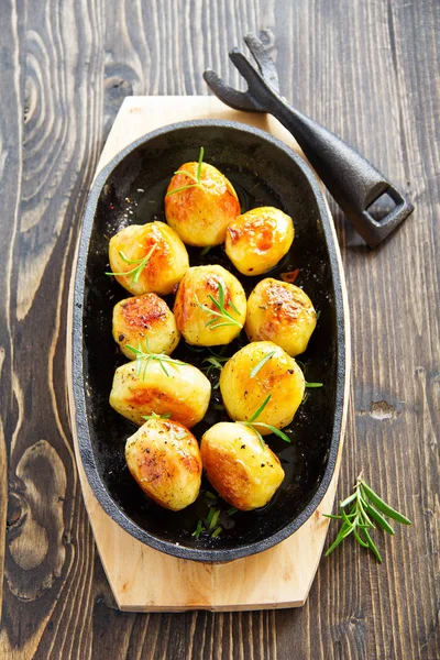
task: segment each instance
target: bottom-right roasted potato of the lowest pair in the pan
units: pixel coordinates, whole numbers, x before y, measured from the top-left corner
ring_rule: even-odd
[[[283,482],[278,457],[241,424],[216,424],[204,435],[200,451],[212,486],[243,512],[266,505]]]

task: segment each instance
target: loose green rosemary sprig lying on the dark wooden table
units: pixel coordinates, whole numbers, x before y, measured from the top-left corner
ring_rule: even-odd
[[[350,505],[351,507],[348,509],[346,507]],[[384,516],[387,516],[402,525],[411,524],[406,516],[399,514],[396,509],[386,504],[386,502],[384,502],[373,488],[365,483],[362,479],[362,473],[358,476],[354,493],[349,495],[343,502],[340,502],[339,508],[341,512],[341,515],[339,516],[323,514],[327,518],[342,520],[338,536],[327,550],[326,557],[346,539],[346,537],[353,534],[356,541],[363,548],[373,552],[377,561],[382,563],[381,553],[371,538],[369,529],[375,529],[377,525],[381,529],[394,536],[394,529]]]

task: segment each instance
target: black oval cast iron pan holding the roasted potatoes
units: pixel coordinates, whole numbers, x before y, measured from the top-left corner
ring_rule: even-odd
[[[262,509],[224,519],[224,532],[218,538],[196,540],[191,534],[207,514],[206,496],[201,494],[180,513],[168,512],[142,493],[125,466],[125,440],[136,427],[110,407],[109,394],[114,370],[125,361],[112,339],[112,308],[128,293],[105,272],[109,270],[109,239],[128,224],[164,220],[163,199],[169,178],[179,165],[197,160],[200,146],[205,147],[205,161],[231,179],[242,208],[280,208],[293,217],[296,237],[277,267],[258,277],[238,273],[222,246],[205,256],[201,249],[190,248],[190,265],[220,263],[239,277],[246,294],[263,277],[279,277],[282,272],[300,268],[296,284],[308,293],[320,317],[299,360],[305,364],[306,380],[322,382],[323,387],[310,391],[287,429],[290,444],[270,437],[286,473],[273,501]],[[322,194],[305,162],[267,133],[235,122],[193,121],[154,131],[119,153],[97,177],[84,217],[75,279],[73,387],[77,437],[96,497],[136,539],[175,557],[231,561],[287,538],[322,499],[340,442],[345,367],[341,280],[330,223]],[[167,302],[173,305],[172,297]],[[244,343],[243,331],[227,354],[232,355]],[[207,355],[208,350],[191,351],[183,340],[173,353],[196,366]],[[219,392],[213,391],[207,416],[191,429],[197,438],[226,419],[224,413],[212,408],[220,402]],[[206,483],[202,488],[212,491]]]

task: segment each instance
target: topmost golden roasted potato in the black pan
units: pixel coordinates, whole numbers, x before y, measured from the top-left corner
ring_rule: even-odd
[[[175,174],[165,197],[165,217],[188,245],[219,245],[223,243],[228,224],[240,213],[240,202],[232,184],[208,163],[201,164],[201,187],[168,195],[194,180],[182,173],[196,176],[198,163],[185,163]]]

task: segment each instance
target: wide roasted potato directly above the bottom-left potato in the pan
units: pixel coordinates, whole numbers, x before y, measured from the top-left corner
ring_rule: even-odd
[[[164,369],[166,373],[164,372]],[[155,413],[170,417],[190,429],[205,416],[211,385],[191,364],[141,360],[128,362],[114,372],[110,405],[134,424]]]

